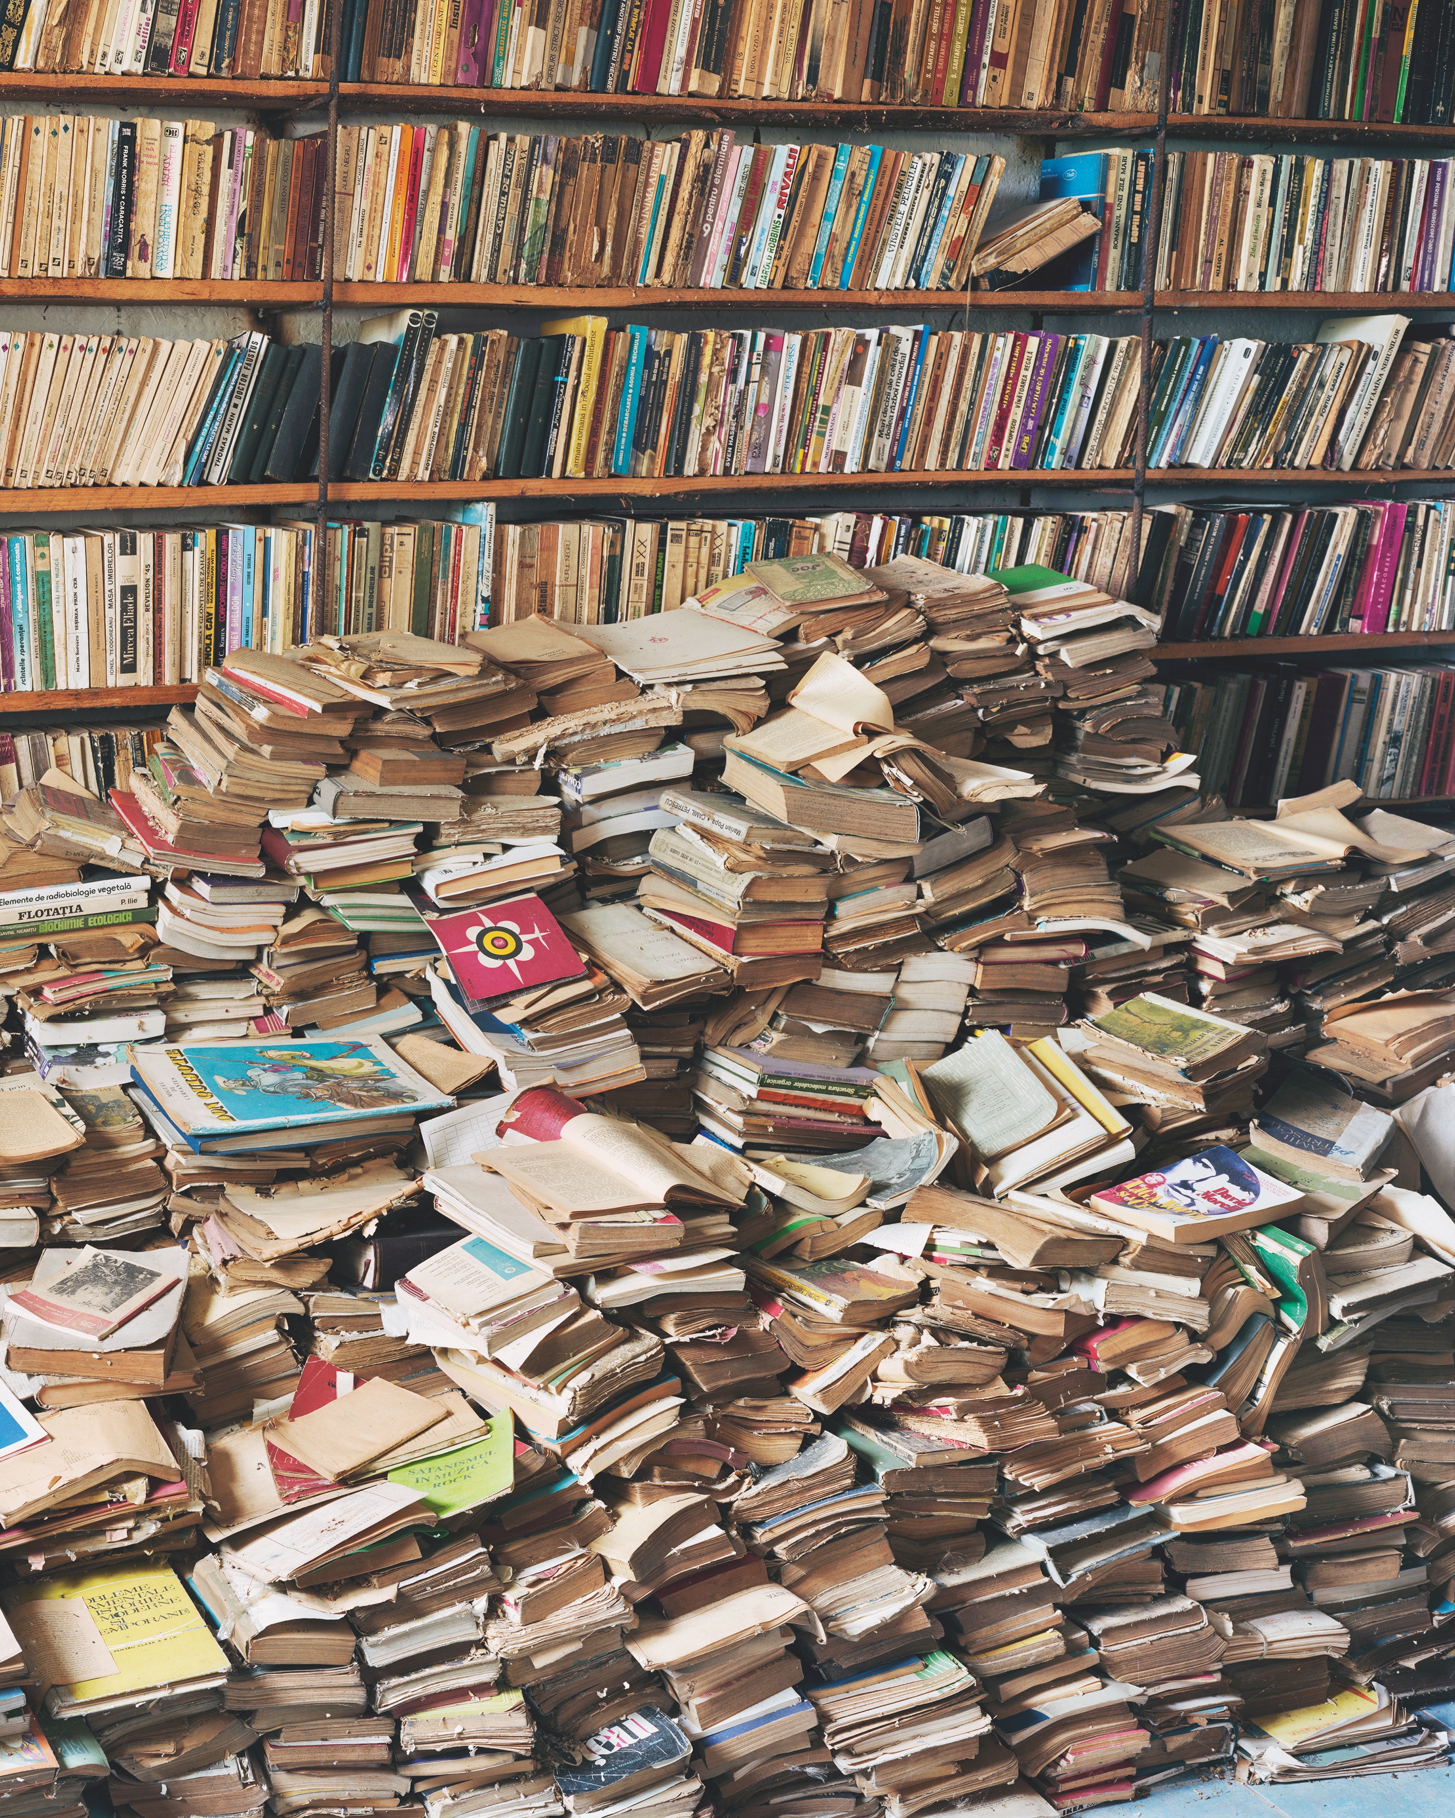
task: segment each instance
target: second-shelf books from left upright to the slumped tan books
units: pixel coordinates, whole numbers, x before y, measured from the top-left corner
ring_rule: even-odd
[[[1004,169],[988,153],[755,145],[729,131],[342,125],[335,276],[964,291]]]

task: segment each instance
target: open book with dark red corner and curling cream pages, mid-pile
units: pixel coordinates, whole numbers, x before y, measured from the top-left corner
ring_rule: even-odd
[[[504,1124],[507,1140],[478,1156],[482,1167],[557,1218],[740,1204],[653,1131],[582,1111],[551,1087],[522,1093]]]

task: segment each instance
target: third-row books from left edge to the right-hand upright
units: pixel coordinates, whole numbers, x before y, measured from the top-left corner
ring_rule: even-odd
[[[1115,467],[1133,440],[1135,336],[436,327],[398,311],[335,349],[335,478]],[[316,344],[13,331],[0,356],[5,485],[316,473]]]

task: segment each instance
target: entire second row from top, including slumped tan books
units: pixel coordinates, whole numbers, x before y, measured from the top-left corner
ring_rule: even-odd
[[[324,136],[211,120],[0,120],[0,276],[311,282]],[[335,280],[551,289],[1133,291],[1151,151],[1046,158],[1040,202],[991,216],[1004,158],[338,129]],[[51,198],[49,202],[45,198]],[[1155,289],[1448,293],[1448,158],[1169,153]]]

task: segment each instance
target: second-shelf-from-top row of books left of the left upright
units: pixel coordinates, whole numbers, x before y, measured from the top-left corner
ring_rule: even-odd
[[[320,133],[104,115],[9,115],[0,133],[0,276],[322,273]]]

